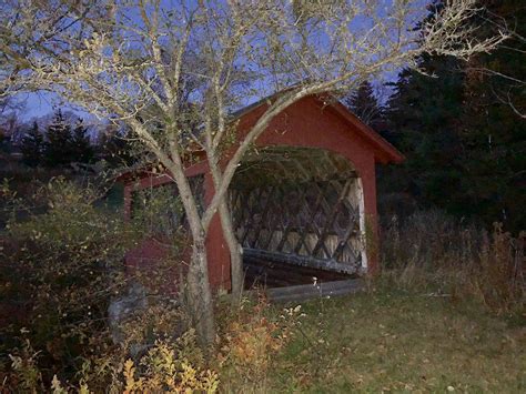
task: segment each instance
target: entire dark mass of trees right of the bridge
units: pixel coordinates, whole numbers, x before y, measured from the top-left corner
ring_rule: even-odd
[[[378,168],[385,216],[441,208],[514,233],[526,229],[526,7],[514,0],[486,7],[515,31],[499,50],[467,63],[424,55],[422,73],[403,70],[384,108],[370,85],[347,101],[406,156],[402,165]]]

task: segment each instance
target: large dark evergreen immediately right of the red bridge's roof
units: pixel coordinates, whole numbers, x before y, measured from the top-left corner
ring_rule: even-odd
[[[426,55],[421,68],[435,78],[404,70],[388,101],[390,129],[406,155],[405,163],[394,170],[391,188],[409,193],[424,205],[462,214],[465,208],[457,203],[464,193],[463,145],[457,123],[464,74],[453,58]]]

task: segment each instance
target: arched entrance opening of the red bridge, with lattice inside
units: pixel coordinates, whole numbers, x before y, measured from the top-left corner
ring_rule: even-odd
[[[235,174],[230,203],[249,286],[338,281],[366,267],[362,182],[340,154],[254,150]]]

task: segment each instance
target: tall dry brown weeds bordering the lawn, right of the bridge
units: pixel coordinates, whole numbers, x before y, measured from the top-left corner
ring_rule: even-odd
[[[383,277],[403,289],[433,289],[452,296],[476,296],[490,310],[524,305],[524,247],[496,223],[493,232],[441,211],[415,212],[383,225]]]

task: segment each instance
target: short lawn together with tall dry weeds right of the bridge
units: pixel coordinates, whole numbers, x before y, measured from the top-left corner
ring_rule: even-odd
[[[380,277],[304,304],[259,392],[526,392],[524,244],[436,211],[391,221]]]

